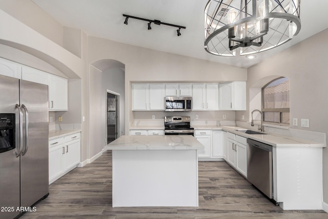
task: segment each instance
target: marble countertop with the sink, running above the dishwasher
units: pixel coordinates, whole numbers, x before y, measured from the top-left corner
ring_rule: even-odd
[[[275,135],[275,134],[246,134],[243,132],[237,131],[245,130],[245,128],[240,127],[229,127],[229,126],[223,126],[223,131],[228,131],[234,134],[237,134],[242,137],[251,138],[255,141],[262,142],[264,144],[272,145],[274,147],[326,147],[325,144],[318,143],[318,142],[312,142],[308,140],[303,140],[301,138],[295,138],[290,136],[281,136],[281,135]]]

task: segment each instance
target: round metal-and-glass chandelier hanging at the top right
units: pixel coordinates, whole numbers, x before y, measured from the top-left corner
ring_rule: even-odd
[[[210,0],[204,12],[204,47],[238,56],[284,44],[301,29],[300,0]]]

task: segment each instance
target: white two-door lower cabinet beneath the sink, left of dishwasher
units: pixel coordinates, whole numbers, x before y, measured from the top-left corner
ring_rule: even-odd
[[[226,132],[224,140],[223,158],[239,173],[247,177],[247,138]]]

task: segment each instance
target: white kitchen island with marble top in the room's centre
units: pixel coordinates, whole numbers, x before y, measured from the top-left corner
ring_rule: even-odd
[[[198,207],[198,156],[192,135],[124,135],[112,150],[113,207]]]

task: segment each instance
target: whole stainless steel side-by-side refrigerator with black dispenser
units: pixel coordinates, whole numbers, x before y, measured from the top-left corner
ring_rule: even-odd
[[[0,218],[49,194],[48,86],[0,75]]]

